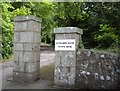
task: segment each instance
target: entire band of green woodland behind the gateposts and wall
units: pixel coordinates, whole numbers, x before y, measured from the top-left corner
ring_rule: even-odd
[[[14,17],[20,15],[42,18],[41,42],[54,45],[53,29],[72,26],[83,29],[80,48],[118,52],[120,2],[2,2],[0,13],[3,59],[13,54]]]

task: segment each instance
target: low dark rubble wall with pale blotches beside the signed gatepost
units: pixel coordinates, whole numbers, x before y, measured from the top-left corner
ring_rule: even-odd
[[[119,59],[120,60],[120,59]],[[83,89],[118,88],[118,55],[87,49],[77,51],[76,87]]]

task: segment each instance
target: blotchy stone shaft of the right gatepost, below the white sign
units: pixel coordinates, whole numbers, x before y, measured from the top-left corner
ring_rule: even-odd
[[[62,55],[59,55],[62,54]],[[56,52],[55,56],[55,85],[74,87],[76,52]]]

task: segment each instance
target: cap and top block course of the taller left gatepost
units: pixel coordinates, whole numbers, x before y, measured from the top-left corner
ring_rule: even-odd
[[[17,16],[15,21],[15,31],[40,31],[42,20],[33,15]],[[22,26],[22,27],[21,27]]]

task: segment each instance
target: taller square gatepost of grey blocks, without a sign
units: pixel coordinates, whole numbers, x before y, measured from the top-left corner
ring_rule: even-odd
[[[33,82],[39,78],[41,21],[32,15],[14,19],[13,81]]]

